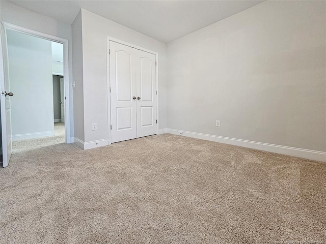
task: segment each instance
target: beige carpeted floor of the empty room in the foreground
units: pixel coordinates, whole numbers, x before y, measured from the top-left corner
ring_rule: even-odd
[[[326,164],[170,134],[15,153],[1,243],[326,243]]]

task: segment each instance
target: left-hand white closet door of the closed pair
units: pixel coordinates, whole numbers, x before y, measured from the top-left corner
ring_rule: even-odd
[[[137,138],[136,51],[110,42],[112,142]]]

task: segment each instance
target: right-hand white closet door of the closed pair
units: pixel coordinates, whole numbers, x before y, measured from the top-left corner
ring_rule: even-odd
[[[155,55],[137,52],[137,137],[156,134]]]

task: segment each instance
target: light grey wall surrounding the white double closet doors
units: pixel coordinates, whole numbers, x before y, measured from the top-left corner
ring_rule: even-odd
[[[84,9],[82,26],[85,142],[108,139],[106,36],[158,52],[159,127],[165,128],[166,44]]]

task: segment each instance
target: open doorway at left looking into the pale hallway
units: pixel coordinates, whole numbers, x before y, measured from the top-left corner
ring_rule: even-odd
[[[65,143],[63,44],[7,29],[7,45],[13,153]]]

